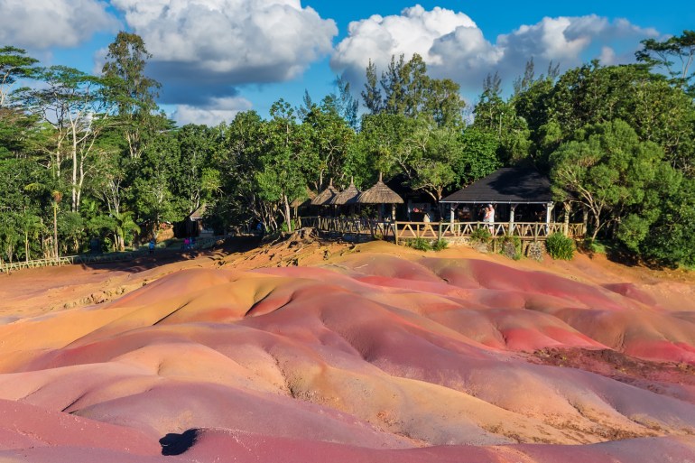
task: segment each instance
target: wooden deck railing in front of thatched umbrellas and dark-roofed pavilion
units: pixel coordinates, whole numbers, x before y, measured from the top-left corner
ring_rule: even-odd
[[[396,244],[412,239],[462,241],[473,235],[478,228],[492,228],[492,236],[518,236],[522,240],[543,241],[553,233],[572,238],[584,236],[583,224],[561,222],[379,222],[367,218],[300,218],[301,227],[339,236],[364,236],[393,239]]]

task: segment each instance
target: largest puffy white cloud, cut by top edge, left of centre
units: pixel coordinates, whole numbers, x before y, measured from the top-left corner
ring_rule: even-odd
[[[338,33],[299,0],[112,0],[171,76],[206,72],[227,84],[292,79],[332,50]],[[195,82],[191,82],[195,83]]]

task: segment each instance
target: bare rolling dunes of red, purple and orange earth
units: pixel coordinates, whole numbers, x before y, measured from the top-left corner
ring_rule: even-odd
[[[0,297],[3,461],[695,461],[688,274],[295,236]]]

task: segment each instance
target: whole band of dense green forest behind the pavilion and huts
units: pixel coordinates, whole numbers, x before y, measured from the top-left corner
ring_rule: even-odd
[[[119,32],[100,76],[44,69],[0,48],[0,258],[125,249],[206,206],[218,231],[292,230],[330,182],[385,181],[432,202],[503,165],[532,162],[559,199],[588,211],[589,235],[660,264],[695,264],[693,32],[645,40],[638,63],[590,62],[514,92],[492,73],[464,116],[459,86],[419,55],[370,61],[360,93],[336,90],[268,115],[177,127],[156,105],[142,39]]]

